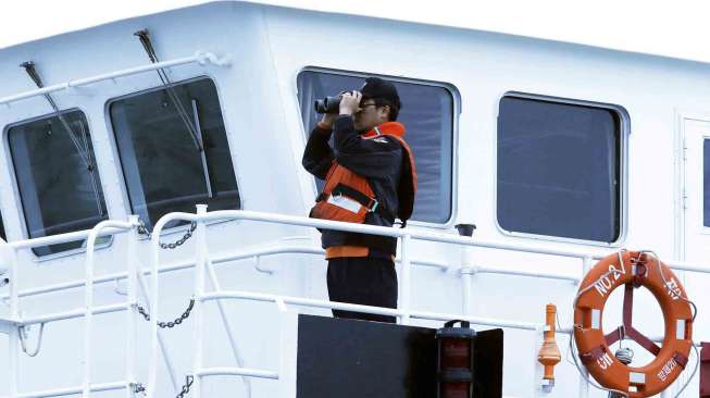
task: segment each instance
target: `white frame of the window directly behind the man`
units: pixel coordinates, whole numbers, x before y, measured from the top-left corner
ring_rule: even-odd
[[[308,135],[310,132],[306,130],[306,125],[303,124],[303,117],[301,116],[302,112],[302,104],[299,101],[299,92],[298,92],[298,79],[301,76],[302,73],[304,72],[316,72],[316,73],[327,73],[327,74],[334,74],[334,75],[341,75],[341,76],[348,76],[348,77],[356,77],[356,78],[366,78],[366,77],[381,77],[383,79],[389,80],[389,82],[397,82],[397,83],[407,83],[407,84],[416,84],[421,86],[431,86],[431,87],[438,87],[438,88],[444,88],[449,92],[451,96],[451,102],[453,104],[451,109],[451,159],[450,159],[450,170],[451,170],[451,197],[449,198],[449,203],[451,204],[451,212],[449,214],[449,217],[443,222],[443,223],[434,223],[434,222],[428,222],[428,221],[416,221],[416,220],[409,220],[407,222],[407,225],[412,225],[412,226],[421,226],[421,227],[431,227],[431,228],[437,228],[437,229],[449,229],[453,227],[454,221],[457,220],[458,215],[458,192],[459,192],[459,119],[461,115],[461,94],[459,89],[451,83],[447,82],[438,82],[438,80],[428,80],[428,79],[422,79],[422,78],[414,78],[414,77],[402,77],[402,76],[391,76],[391,75],[384,75],[379,73],[368,73],[368,72],[360,72],[360,71],[351,71],[351,70],[338,70],[338,69],[331,69],[331,67],[322,67],[322,66],[314,66],[314,65],[308,65],[302,69],[300,69],[292,80],[294,85],[294,100],[296,101],[297,109],[298,109],[298,121],[300,124],[300,130],[301,130],[301,139],[302,139],[302,145],[301,145],[301,152],[303,153],[303,149],[306,149],[306,142],[308,140]],[[308,104],[311,107],[312,104]],[[300,159],[299,162],[300,164]],[[310,175],[310,174],[309,174]],[[313,200],[315,200],[315,197],[319,195],[317,191],[317,186],[315,184],[315,177],[310,175],[310,185],[311,185],[311,192],[313,194]]]

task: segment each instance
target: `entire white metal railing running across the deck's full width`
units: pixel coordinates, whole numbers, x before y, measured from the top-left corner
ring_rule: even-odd
[[[161,231],[164,228],[164,226],[171,222],[171,221],[176,221],[176,220],[185,220],[185,221],[192,221],[197,222],[198,226],[195,233],[195,239],[196,239],[196,250],[197,250],[197,259],[195,263],[179,263],[179,264],[173,264],[169,266],[159,266],[160,262],[160,246],[159,246],[159,237]],[[264,254],[273,254],[273,253],[284,253],[287,251],[279,251],[277,248],[276,249],[260,249],[247,253],[238,253],[238,254],[227,254],[227,256],[222,256],[220,258],[215,258],[214,260],[210,260],[209,257],[209,247],[207,244],[207,238],[205,238],[205,223],[214,220],[245,220],[245,221],[254,221],[254,222],[264,222],[264,223],[276,223],[276,224],[286,224],[286,225],[298,225],[298,226],[304,226],[304,227],[319,227],[319,228],[328,228],[328,229],[339,229],[339,231],[347,231],[347,232],[357,232],[357,233],[366,233],[366,234],[375,234],[375,235],[382,235],[382,236],[390,236],[390,237],[396,237],[398,239],[401,239],[401,295],[400,295],[400,301],[399,301],[399,308],[398,309],[385,309],[385,308],[376,308],[376,307],[368,307],[368,306],[358,306],[358,304],[349,304],[349,303],[341,303],[341,302],[332,302],[332,301],[325,301],[325,300],[315,300],[315,299],[310,299],[310,298],[302,298],[302,297],[287,297],[287,296],[278,296],[278,295],[265,295],[265,294],[260,294],[260,293],[254,293],[254,291],[225,291],[222,290],[219,281],[216,278],[216,275],[214,274],[213,265],[217,261],[231,261],[234,259],[240,259],[240,258],[248,258],[248,257],[256,257],[256,256],[264,256]],[[136,374],[135,374],[135,356],[133,353],[135,349],[135,343],[136,343],[136,325],[135,325],[135,319],[138,316],[137,313],[137,289],[141,284],[141,278],[142,275],[146,273],[145,270],[138,270],[138,262],[136,259],[136,245],[139,241],[139,237],[137,234],[136,226],[138,225],[137,223],[137,217],[132,216],[132,219],[126,223],[126,222],[115,222],[115,221],[107,221],[98,224],[94,229],[91,231],[86,231],[86,232],[78,232],[78,233],[71,233],[71,234],[63,234],[63,235],[57,235],[57,236],[51,236],[51,237],[43,237],[43,238],[36,238],[36,239],[29,239],[29,240],[23,240],[23,241],[17,241],[17,242],[12,242],[8,244],[8,247],[10,247],[11,250],[11,256],[10,256],[10,278],[11,278],[11,285],[10,285],[10,326],[8,326],[8,334],[10,337],[10,355],[9,355],[9,364],[10,364],[10,397],[52,397],[52,396],[63,396],[63,395],[75,395],[75,394],[82,394],[85,398],[88,398],[90,391],[98,391],[98,390],[107,390],[107,389],[125,389],[126,390],[126,396],[130,397],[132,396],[132,389],[136,384]],[[101,277],[95,277],[94,276],[94,251],[95,251],[95,242],[96,238],[99,236],[107,236],[107,235],[117,235],[117,234],[125,234],[126,232],[130,232],[130,237],[128,238],[128,250],[127,250],[127,261],[126,263],[128,264],[128,270],[126,273],[121,273],[121,274],[112,274],[110,276],[101,276]],[[72,310],[72,311],[64,311],[64,312],[57,312],[57,313],[51,313],[51,314],[43,314],[43,315],[35,315],[35,316],[20,316],[20,311],[18,311],[18,303],[20,303],[20,297],[21,294],[17,290],[17,279],[18,279],[18,264],[17,264],[17,251],[18,250],[24,250],[24,249],[30,249],[39,246],[46,246],[46,245],[53,245],[53,244],[61,244],[61,242],[66,242],[66,241],[72,241],[72,240],[78,240],[78,239],[84,239],[87,238],[87,258],[85,262],[85,281],[83,284],[77,285],[76,283],[68,283],[68,284],[62,284],[62,285],[52,285],[50,287],[45,287],[45,288],[35,288],[32,290],[25,290],[23,294],[24,296],[32,296],[32,295],[38,295],[42,293],[48,293],[48,291],[59,291],[62,289],[68,289],[68,288],[75,288],[79,287],[80,285],[84,285],[86,288],[85,291],[85,306],[82,309],[78,310]],[[195,315],[196,315],[196,336],[195,338],[195,345],[196,345],[196,355],[195,355],[195,360],[192,363],[192,374],[195,376],[195,387],[194,387],[194,394],[196,397],[199,398],[200,396],[200,384],[201,384],[201,378],[204,376],[212,376],[212,375],[240,375],[244,377],[264,377],[264,378],[278,378],[279,375],[277,372],[274,372],[272,370],[258,370],[258,369],[249,369],[246,368],[241,361],[240,358],[238,358],[237,349],[236,349],[236,344],[233,339],[233,333],[231,326],[228,326],[228,322],[226,320],[226,316],[224,315],[224,310],[221,309],[222,313],[222,321],[225,323],[225,326],[227,327],[228,335],[229,335],[229,343],[233,345],[233,350],[235,352],[235,359],[238,364],[237,368],[204,368],[202,365],[202,355],[201,355],[201,349],[202,349],[202,338],[203,338],[203,322],[202,321],[202,311],[203,309],[201,308],[203,302],[207,301],[216,301],[217,304],[220,304],[221,300],[223,299],[244,299],[244,300],[258,300],[258,301],[271,301],[275,302],[281,309],[285,309],[287,304],[292,304],[292,306],[306,306],[306,307],[313,307],[313,308],[327,308],[327,309],[342,309],[342,310],[352,310],[352,311],[358,311],[358,312],[368,312],[368,313],[375,313],[375,314],[387,314],[387,315],[395,315],[398,316],[401,323],[407,324],[410,322],[411,319],[422,319],[422,320],[437,320],[437,321],[447,321],[451,319],[463,319],[468,320],[473,324],[477,325],[487,325],[487,326],[496,326],[496,327],[509,327],[509,328],[518,328],[518,329],[526,329],[526,331],[534,331],[534,338],[536,341],[540,338],[541,336],[541,331],[544,329],[544,325],[541,323],[530,323],[530,322],[516,322],[516,321],[506,321],[506,320],[496,320],[496,319],[484,319],[484,318],[476,318],[476,316],[471,316],[468,311],[463,311],[461,314],[456,314],[456,313],[434,313],[434,312],[422,312],[422,311],[413,311],[410,308],[410,271],[411,266],[414,262],[410,258],[410,246],[411,241],[413,239],[416,240],[427,240],[427,241],[436,241],[436,242],[445,242],[445,244],[453,244],[453,245],[459,245],[464,248],[472,248],[472,247],[481,247],[481,248],[491,248],[491,249],[501,249],[501,250],[509,250],[509,251],[521,251],[521,252],[530,252],[530,253],[539,253],[539,254],[549,254],[549,256],[558,256],[558,257],[566,257],[566,258],[574,258],[582,260],[582,275],[586,274],[588,270],[593,265],[593,261],[595,259],[602,258],[606,256],[606,253],[601,252],[590,252],[590,251],[575,251],[575,250],[555,250],[555,249],[547,249],[547,248],[539,248],[535,247],[532,245],[513,245],[513,244],[506,244],[506,242],[498,242],[498,241],[489,241],[489,240],[482,240],[482,239],[472,239],[470,237],[461,237],[458,235],[448,235],[448,234],[443,234],[443,233],[432,233],[432,232],[425,232],[425,231],[410,231],[409,228],[404,229],[397,229],[397,228],[389,228],[389,227],[382,227],[382,226],[371,226],[371,225],[360,225],[360,224],[349,224],[349,223],[341,223],[341,222],[334,222],[334,221],[324,221],[324,220],[313,220],[313,219],[307,219],[307,217],[299,217],[299,216],[289,216],[289,215],[281,215],[281,214],[271,214],[271,213],[260,213],[260,212],[249,212],[249,211],[215,211],[215,212],[207,212],[207,207],[204,206],[198,206],[198,212],[197,214],[190,214],[190,213],[171,213],[166,214],[163,217],[161,217],[158,223],[155,224],[155,227],[153,229],[153,235],[151,238],[151,261],[150,261],[150,274],[151,275],[159,275],[161,272],[167,272],[167,271],[174,271],[178,269],[187,269],[195,266]],[[321,251],[313,249],[313,248],[289,248],[292,249],[294,252],[308,252],[308,253],[320,253]],[[471,259],[466,259],[466,261],[470,261]],[[682,270],[682,271],[690,271],[690,272],[700,272],[700,273],[710,273],[710,268],[700,265],[700,264],[692,264],[692,263],[674,263],[674,262],[668,262],[668,264],[675,270]],[[437,262],[433,261],[425,261],[423,262],[423,265],[428,265],[428,266],[439,266],[444,270],[448,269],[449,266],[447,264],[439,264]],[[556,274],[556,273],[534,273],[534,272],[520,272],[520,271],[514,271],[514,270],[505,270],[501,268],[484,268],[484,266],[473,266],[471,262],[464,263],[461,266],[461,274],[462,274],[462,290],[463,290],[463,297],[470,297],[470,288],[471,288],[471,278],[470,276],[476,272],[493,272],[493,273],[501,273],[501,274],[510,274],[510,275],[519,275],[519,276],[534,276],[534,277],[551,277],[556,279],[568,279],[568,281],[573,281],[575,283],[578,283],[581,278],[576,278],[570,275],[562,275],[562,274]],[[205,293],[205,273],[207,275],[210,276],[210,281],[212,282],[214,291],[213,293]],[[124,303],[119,303],[119,304],[111,304],[111,306],[102,306],[102,307],[95,307],[94,306],[94,300],[92,300],[92,287],[95,283],[105,283],[109,281],[113,281],[116,278],[126,278],[127,279],[127,300]],[[150,290],[150,299],[149,301],[149,308],[150,312],[153,314],[159,313],[159,277],[152,277],[151,278],[151,290]],[[468,294],[466,294],[468,291]],[[465,307],[464,307],[465,308]],[[90,384],[90,374],[87,371],[87,369],[90,369],[90,363],[91,363],[91,348],[90,345],[87,343],[91,340],[91,324],[92,324],[92,316],[95,314],[101,314],[101,313],[110,313],[110,312],[116,312],[116,311],[126,311],[126,321],[128,323],[128,327],[130,329],[130,333],[128,333],[128,337],[126,339],[126,350],[129,353],[127,356],[126,360],[126,380],[122,382],[115,382],[115,383],[109,383],[109,384]],[[80,387],[72,387],[72,388],[58,388],[58,389],[52,389],[52,390],[45,390],[45,391],[36,391],[36,393],[23,393],[18,394],[17,391],[17,363],[18,363],[18,341],[20,341],[20,335],[18,335],[18,327],[15,327],[13,325],[29,325],[29,324],[36,324],[36,323],[47,323],[47,322],[54,322],[54,321],[60,321],[60,320],[68,320],[68,319],[76,319],[76,318],[84,318],[85,319],[85,324],[84,324],[84,338],[85,338],[85,347],[84,347],[84,355],[85,355],[85,361],[84,361],[84,383]],[[5,325],[7,326],[7,325]],[[569,331],[558,331],[560,333],[569,333]],[[152,316],[151,318],[151,335],[150,335],[150,363],[149,363],[149,378],[147,383],[147,393],[149,397],[155,397],[155,381],[157,381],[157,362],[158,362],[158,346],[161,345],[161,338],[160,338],[160,333],[158,328],[158,316]],[[535,345],[537,346],[537,345]],[[173,381],[173,386],[175,387],[175,376],[174,372],[172,370],[172,366],[170,365],[170,361],[167,359],[166,350],[164,350],[163,347],[163,359],[166,361],[169,364],[169,371],[171,372],[171,378]],[[248,378],[245,378],[247,381]],[[587,396],[588,391],[588,385],[586,384],[586,381],[584,377],[581,376],[580,378],[580,395],[581,396]]]

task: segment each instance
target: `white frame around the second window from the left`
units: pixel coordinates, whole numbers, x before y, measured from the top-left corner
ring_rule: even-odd
[[[244,185],[241,184],[239,167],[237,166],[237,163],[236,163],[236,157],[235,157],[234,149],[233,149],[234,148],[234,142],[232,141],[232,137],[231,137],[231,134],[229,134],[231,129],[228,127],[228,122],[227,122],[227,117],[226,117],[227,112],[226,112],[226,110],[224,108],[224,101],[223,101],[223,98],[221,96],[222,90],[220,88],[220,85],[217,84],[219,80],[211,74],[201,74],[201,75],[198,75],[198,76],[191,76],[191,77],[187,77],[187,78],[179,79],[179,80],[176,80],[176,82],[172,82],[170,84],[170,86],[175,87],[175,86],[180,86],[180,85],[184,85],[184,84],[189,84],[189,83],[192,83],[192,82],[199,82],[199,80],[204,80],[204,79],[210,80],[214,85],[214,90],[215,90],[215,94],[217,96],[217,101],[220,103],[220,114],[222,115],[222,122],[224,123],[225,138],[227,140],[227,145],[229,146],[229,148],[228,148],[228,150],[229,150],[229,161],[232,162],[232,170],[234,171],[235,184],[237,186],[237,191],[239,192],[239,202],[241,204],[241,208],[239,210],[247,210],[246,209],[246,199],[245,199],[245,197],[242,195],[244,192],[240,189]],[[109,134],[109,140],[111,141],[110,142],[111,152],[112,152],[112,154],[114,157],[113,159],[114,159],[114,164],[115,164],[115,172],[116,172],[116,174],[117,174],[117,176],[120,178],[120,183],[123,184],[123,186],[121,187],[121,195],[122,195],[123,202],[125,203],[124,209],[126,211],[126,214],[125,214],[126,216],[133,215],[132,214],[133,213],[133,202],[130,201],[130,196],[128,195],[128,183],[126,182],[126,176],[125,176],[124,171],[123,171],[123,161],[122,161],[122,158],[121,158],[121,152],[119,151],[119,145],[116,142],[116,130],[113,127],[113,121],[111,120],[111,105],[116,101],[125,100],[125,99],[133,98],[133,97],[138,97],[138,96],[149,94],[149,92],[159,91],[159,90],[162,90],[163,88],[164,88],[163,85],[159,85],[159,86],[150,85],[150,86],[148,86],[146,88],[142,88],[142,89],[139,89],[137,91],[130,91],[130,92],[126,92],[126,94],[123,94],[123,95],[120,95],[120,96],[116,96],[116,97],[111,97],[108,100],[105,100],[105,102],[103,104],[103,115],[104,115],[104,121],[105,121],[105,125],[107,125],[107,132]],[[208,208],[208,211],[210,209]],[[207,221],[205,224],[207,225],[215,225],[215,224],[229,223],[229,222],[231,223],[239,223],[240,221],[239,220],[213,220],[213,221]],[[189,228],[190,228],[189,223],[184,224],[184,225],[172,226],[172,227],[169,227],[169,228],[163,228],[160,232],[160,236],[163,237],[163,236],[172,236],[172,235],[184,234]],[[138,239],[139,240],[147,240],[147,239],[149,239],[149,237],[144,235],[144,234],[139,234]]]

